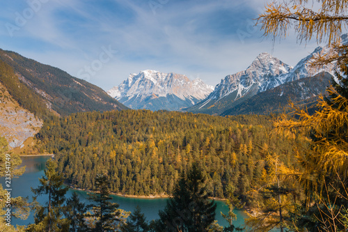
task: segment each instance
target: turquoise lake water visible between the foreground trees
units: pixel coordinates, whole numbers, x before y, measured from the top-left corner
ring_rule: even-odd
[[[16,196],[29,196],[29,201],[31,201],[31,197],[33,196],[31,192],[31,187],[38,187],[39,178],[44,175],[45,162],[49,159],[49,156],[37,156],[37,157],[22,157],[22,165],[26,166],[25,173],[19,178],[13,179],[12,187],[13,197]],[[0,182],[3,185],[3,180]],[[72,196],[72,192],[77,192],[80,200],[84,203],[88,203],[87,193],[81,190],[69,190],[66,195],[67,198]],[[47,201],[47,196],[39,196],[38,202],[43,204]],[[136,198],[127,198],[122,196],[113,196],[113,202],[117,202],[120,205],[120,208],[126,211],[133,211],[136,206],[141,207],[141,211],[145,214],[148,220],[158,219],[158,211],[163,210],[166,206],[166,199],[136,199]],[[221,217],[221,213],[228,213],[228,207],[223,203],[223,201],[216,201],[216,219],[218,220],[221,226],[226,226],[227,222],[223,217]],[[237,210],[237,221],[235,221],[235,225],[239,226],[244,224],[244,218],[246,215],[244,212]],[[33,213],[29,216],[28,219],[19,220],[13,219],[13,225],[26,225],[34,222]]]

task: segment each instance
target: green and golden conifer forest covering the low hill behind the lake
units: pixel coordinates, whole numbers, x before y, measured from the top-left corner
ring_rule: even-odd
[[[118,194],[171,194],[194,161],[204,167],[212,196],[226,196],[232,184],[247,192],[267,169],[266,156],[294,160],[285,138],[271,137],[268,116],[223,118],[169,111],[87,112],[54,118],[38,138],[56,154],[58,171],[73,187],[93,189],[97,173],[111,178]],[[239,123],[238,121],[242,122]]]

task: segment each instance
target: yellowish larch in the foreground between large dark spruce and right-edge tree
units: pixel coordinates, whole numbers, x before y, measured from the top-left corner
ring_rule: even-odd
[[[246,227],[251,231],[277,231],[283,232],[292,224],[290,215],[294,213],[293,195],[296,192],[292,186],[293,181],[287,180],[287,175],[294,173],[277,156],[267,155],[267,165],[259,180],[261,187],[252,191],[253,197],[259,199],[259,208],[253,215],[245,219]]]

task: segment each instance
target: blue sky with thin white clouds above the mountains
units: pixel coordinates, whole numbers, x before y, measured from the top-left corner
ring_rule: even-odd
[[[267,0],[16,0],[0,9],[0,48],[109,90],[140,70],[177,72],[216,85],[261,52],[290,65],[313,52],[262,37]]]

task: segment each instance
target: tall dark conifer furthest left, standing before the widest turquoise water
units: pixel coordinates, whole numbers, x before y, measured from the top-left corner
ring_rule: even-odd
[[[65,194],[69,187],[63,185],[63,178],[56,172],[57,164],[52,159],[47,160],[45,176],[40,178],[38,188],[31,188],[33,206],[35,210],[35,224],[30,224],[27,231],[68,231],[70,220],[63,218],[63,203]],[[40,195],[48,195],[48,201],[45,206],[40,206],[36,199]]]

